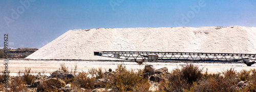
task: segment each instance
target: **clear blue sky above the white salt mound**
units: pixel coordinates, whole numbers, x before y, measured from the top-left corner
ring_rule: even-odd
[[[1,48],[41,48],[70,29],[256,27],[256,1],[0,0],[0,21]]]

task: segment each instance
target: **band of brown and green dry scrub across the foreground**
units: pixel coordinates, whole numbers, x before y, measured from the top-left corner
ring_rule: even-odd
[[[231,68],[221,73],[208,74],[207,71],[202,73],[202,69],[198,66],[189,64],[171,72],[157,72],[159,74],[157,75],[151,67],[147,65],[138,72],[129,71],[124,65],[118,65],[115,71],[109,69],[109,72],[102,71],[101,68],[92,68],[88,72],[78,72],[71,79],[39,79],[40,75],[31,75],[31,69],[26,68],[25,71],[20,71],[18,76],[10,77],[9,90],[0,86],[0,91],[92,91],[95,88],[111,89],[111,91],[151,91],[150,87],[153,84],[158,86],[156,91],[256,91],[255,69],[237,72]],[[65,64],[61,64],[59,70],[69,73]],[[160,76],[163,80],[151,81],[145,77],[146,73]],[[4,74],[2,73],[0,77],[2,79]],[[61,86],[56,87],[59,83],[49,80],[60,81]],[[31,89],[29,86],[35,81],[41,82],[38,82],[36,89]],[[71,84],[71,87],[66,88],[65,84]],[[1,85],[4,85],[3,80]]]

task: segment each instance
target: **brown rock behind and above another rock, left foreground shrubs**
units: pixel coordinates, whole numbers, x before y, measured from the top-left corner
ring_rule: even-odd
[[[72,79],[74,78],[75,75],[74,74],[67,74],[65,72],[62,72],[62,71],[55,71],[51,74],[49,78],[59,78],[59,79],[65,79],[65,78],[68,78],[68,79]]]

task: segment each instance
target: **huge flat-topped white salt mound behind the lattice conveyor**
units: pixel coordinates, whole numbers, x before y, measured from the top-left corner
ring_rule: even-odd
[[[69,30],[26,58],[112,59],[94,51],[256,53],[256,27],[159,27]]]

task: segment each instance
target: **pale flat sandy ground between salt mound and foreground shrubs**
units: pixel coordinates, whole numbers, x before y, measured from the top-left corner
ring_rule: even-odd
[[[2,66],[0,66],[1,71],[4,70],[5,66],[4,60],[0,60]],[[9,60],[8,62],[8,70],[11,71],[10,75],[16,75],[18,71],[24,71],[25,68],[31,68],[32,73],[37,74],[38,72],[49,75],[50,73],[56,71],[60,64],[65,63],[69,70],[75,68],[77,65],[77,70],[88,71],[92,68],[102,68],[103,70],[115,70],[117,65],[124,64],[126,69],[143,69],[144,65],[153,65],[155,69],[160,69],[163,67],[167,67],[168,71],[171,72],[173,69],[179,68],[186,65],[186,63],[149,63],[146,62],[144,65],[138,65],[135,62],[100,62],[100,61],[64,61],[64,60]],[[256,65],[252,65],[251,67],[247,67],[245,64],[230,64],[230,63],[193,63],[194,65],[199,66],[199,68],[203,68],[203,72],[206,72],[208,69],[208,73],[218,73],[224,70],[234,68],[234,70],[240,71],[242,69],[250,70],[256,69]]]

